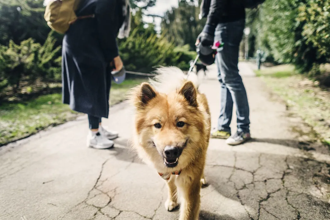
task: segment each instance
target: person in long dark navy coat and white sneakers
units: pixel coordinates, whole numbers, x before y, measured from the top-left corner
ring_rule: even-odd
[[[109,115],[111,66],[123,67],[116,37],[127,16],[125,7],[129,14],[126,0],[82,0],[76,15],[84,18],[71,24],[63,38],[62,99],[88,115],[89,147],[110,148],[118,137],[101,126],[101,118]]]

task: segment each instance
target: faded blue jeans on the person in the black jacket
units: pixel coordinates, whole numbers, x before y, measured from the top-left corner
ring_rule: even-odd
[[[230,132],[233,104],[236,105],[238,131],[249,132],[248,97],[238,73],[239,46],[243,37],[245,20],[219,23],[215,29],[215,41],[223,42],[217,49],[215,63],[221,84],[221,107],[218,130]]]

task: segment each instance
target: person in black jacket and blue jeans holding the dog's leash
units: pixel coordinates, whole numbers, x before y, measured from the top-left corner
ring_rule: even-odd
[[[239,2],[205,0],[201,6],[201,15],[207,17],[207,21],[196,42],[205,47],[216,41],[224,43],[215,55],[221,84],[221,102],[218,127],[211,137],[227,139],[226,143],[230,145],[238,145],[250,139],[248,97],[238,70],[239,45],[245,28],[245,8]],[[231,135],[229,125],[234,103],[237,109],[237,132]]]

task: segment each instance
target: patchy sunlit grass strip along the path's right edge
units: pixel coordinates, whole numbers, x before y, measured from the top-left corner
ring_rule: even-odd
[[[330,147],[330,91],[320,89],[313,81],[297,74],[292,65],[255,72],[286,102],[290,111],[313,127],[318,140]]]

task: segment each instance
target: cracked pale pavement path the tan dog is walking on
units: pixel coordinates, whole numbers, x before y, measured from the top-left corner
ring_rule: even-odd
[[[201,91],[215,127],[220,86],[212,68]],[[269,95],[247,64],[239,68],[254,139],[235,147],[211,139],[200,220],[330,219],[329,149],[291,132],[307,128]],[[110,150],[85,147],[84,116],[1,147],[0,219],[178,219],[177,210],[165,210],[164,180],[127,148],[131,113],[122,103],[104,120],[120,133]]]

